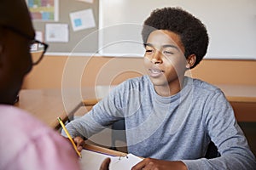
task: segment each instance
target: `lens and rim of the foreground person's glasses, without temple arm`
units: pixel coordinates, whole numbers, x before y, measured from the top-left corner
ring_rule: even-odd
[[[48,44],[39,42],[38,40],[32,40],[30,46],[30,54],[32,55],[32,65],[38,65],[43,59],[44,54],[48,48]]]

